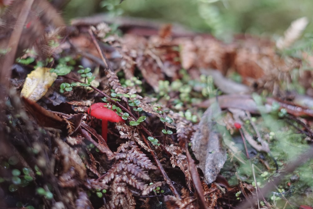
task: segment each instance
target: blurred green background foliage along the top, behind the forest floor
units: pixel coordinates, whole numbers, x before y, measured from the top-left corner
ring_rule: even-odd
[[[306,16],[311,20],[311,0],[72,0],[66,18],[108,12],[181,23],[200,32],[227,39],[234,33],[279,34]],[[306,29],[311,31],[312,25]]]

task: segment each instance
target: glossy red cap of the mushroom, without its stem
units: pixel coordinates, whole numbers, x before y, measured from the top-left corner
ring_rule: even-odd
[[[124,122],[121,116],[116,114],[115,111],[104,107],[105,105],[107,105],[107,103],[95,103],[89,107],[88,113],[98,119],[107,120],[110,122]]]

